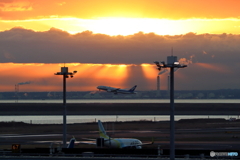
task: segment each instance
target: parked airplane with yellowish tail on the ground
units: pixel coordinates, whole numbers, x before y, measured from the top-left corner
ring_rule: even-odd
[[[133,139],[133,138],[111,138],[107,135],[102,122],[98,120],[98,128],[99,128],[99,135],[100,138],[95,139],[86,139],[91,140],[81,142],[83,144],[94,144],[97,146],[104,146],[104,147],[110,147],[110,148],[132,148],[132,149],[142,149],[143,145],[150,145],[151,143],[142,143],[139,139]],[[103,142],[103,144],[98,144],[99,140]]]

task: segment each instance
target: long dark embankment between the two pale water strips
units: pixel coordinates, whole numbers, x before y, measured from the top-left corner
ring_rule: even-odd
[[[0,103],[0,115],[62,115],[61,103]],[[68,115],[169,115],[168,103],[68,103]],[[175,103],[175,115],[239,115],[238,103]]]

